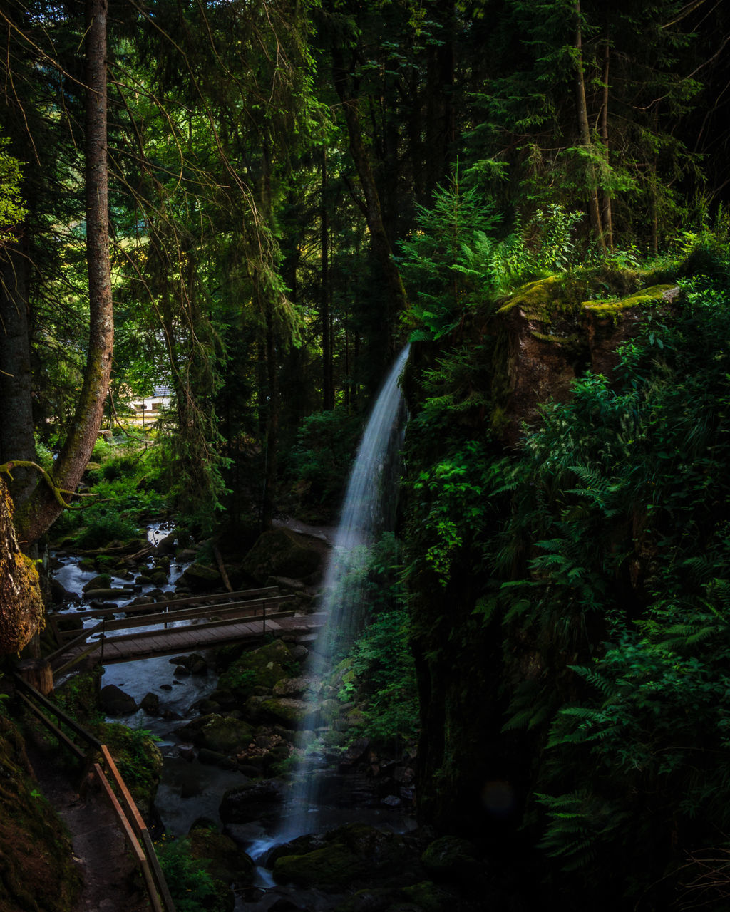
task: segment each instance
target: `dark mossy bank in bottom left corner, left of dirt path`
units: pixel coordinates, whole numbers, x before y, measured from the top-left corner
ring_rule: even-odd
[[[68,912],[81,886],[71,845],[26,763],[22,738],[0,716],[0,909]]]

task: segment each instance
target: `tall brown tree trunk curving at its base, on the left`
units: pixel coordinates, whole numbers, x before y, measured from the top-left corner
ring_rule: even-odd
[[[109,389],[114,319],[111,305],[107,171],[107,0],[86,4],[86,221],[89,272],[89,351],[84,380],[68,436],[52,475],[73,491],[89,462]],[[35,543],[62,507],[43,483],[16,513],[24,548]]]

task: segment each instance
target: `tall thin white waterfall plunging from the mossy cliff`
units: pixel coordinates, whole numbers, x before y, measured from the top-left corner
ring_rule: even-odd
[[[313,710],[308,728],[318,730],[318,682],[333,660],[349,647],[367,613],[364,574],[370,544],[395,523],[399,456],[405,407],[398,381],[408,358],[406,346],[396,359],[370,413],[360,440],[357,459],[349,475],[338,531],[325,576],[320,610],[327,614],[325,627],[310,651],[307,674],[317,682],[311,696]],[[266,855],[272,845],[317,829],[318,776],[311,760],[304,760],[295,778],[292,814],[282,822],[276,837],[262,839],[249,848],[253,857]],[[315,819],[312,817],[315,812]]]

